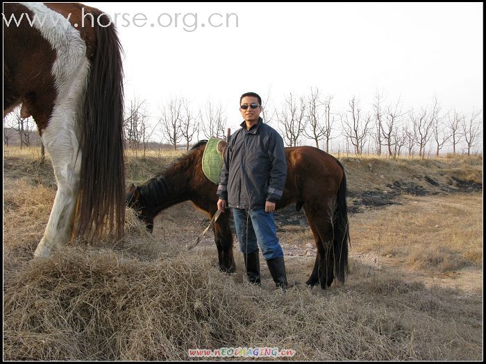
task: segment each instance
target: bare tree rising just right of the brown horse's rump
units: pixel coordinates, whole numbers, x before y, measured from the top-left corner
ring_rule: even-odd
[[[355,154],[360,155],[366,144],[371,116],[367,114],[367,116],[362,118],[359,101],[355,100],[355,96],[349,101],[349,107],[349,118],[348,114],[346,114],[345,121],[342,119],[342,123],[344,123],[344,125],[342,125],[343,132],[346,139],[349,139],[351,144],[353,144]],[[351,121],[349,119],[351,119]]]

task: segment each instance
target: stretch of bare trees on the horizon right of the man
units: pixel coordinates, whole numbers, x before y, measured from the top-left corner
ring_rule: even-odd
[[[385,103],[383,94],[377,92],[369,112],[362,110],[354,96],[345,112],[335,112],[332,101],[333,96],[319,96],[319,89],[311,89],[310,94],[299,98],[292,93],[285,96],[280,110],[276,111],[285,144],[297,146],[306,137],[317,148],[328,152],[332,139],[344,137],[346,150],[351,148],[356,155],[367,148],[377,155],[396,157],[417,151],[424,157],[427,147],[439,155],[449,145],[455,154],[462,143],[469,155],[478,146],[481,135],[482,112],[442,112],[436,97],[431,105],[419,110],[403,110],[400,98]]]

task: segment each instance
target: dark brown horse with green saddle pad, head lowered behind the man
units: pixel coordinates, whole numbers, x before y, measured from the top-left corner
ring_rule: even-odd
[[[202,171],[206,141],[200,141],[179,162],[140,187],[133,184],[126,203],[137,211],[140,220],[152,231],[153,218],[179,202],[190,200],[211,218],[217,211],[217,185]],[[276,209],[292,202],[303,207],[314,234],[317,256],[306,284],[320,282],[326,289],[334,279],[344,282],[348,265],[349,223],[346,207],[346,175],[332,155],[311,146],[285,148],[287,180]],[[233,235],[228,224],[229,211],[221,214],[213,227],[218,250],[219,268],[235,271]]]

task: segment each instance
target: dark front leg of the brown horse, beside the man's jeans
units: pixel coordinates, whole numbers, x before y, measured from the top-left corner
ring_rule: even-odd
[[[228,223],[229,214],[230,211],[227,209],[224,214],[219,215],[219,218],[212,227],[212,231],[215,233],[219,269],[222,272],[234,273],[236,271],[236,265],[233,257],[233,234],[231,234]]]

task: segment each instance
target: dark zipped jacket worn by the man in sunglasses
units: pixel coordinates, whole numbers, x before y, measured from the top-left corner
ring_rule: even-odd
[[[246,130],[246,123],[231,136],[221,170],[217,194],[228,207],[261,209],[265,201],[282,197],[287,163],[282,137],[262,118]]]

